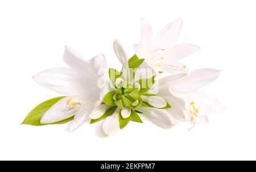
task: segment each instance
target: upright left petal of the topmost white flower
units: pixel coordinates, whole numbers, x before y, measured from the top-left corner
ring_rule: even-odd
[[[142,18],[141,19],[141,43],[139,45],[134,45],[135,54],[139,58],[147,58],[150,52],[150,47],[152,44],[152,28],[150,23]]]

